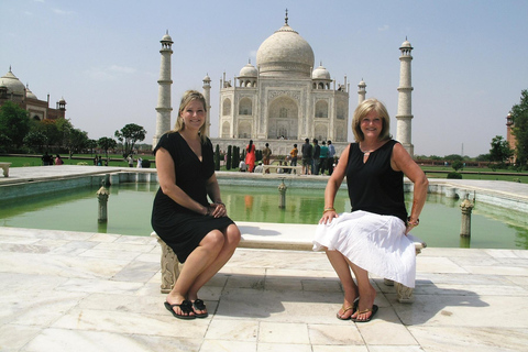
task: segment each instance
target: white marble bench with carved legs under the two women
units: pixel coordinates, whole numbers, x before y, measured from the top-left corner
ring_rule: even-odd
[[[311,240],[316,232],[316,224],[299,223],[264,223],[264,222],[237,222],[242,233],[242,240],[239,248],[261,249],[261,250],[293,250],[311,251]],[[173,250],[163,242],[155,233],[152,237],[157,239],[162,246],[162,294],[168,294],[178,278],[184,264],[178,262]],[[415,239],[416,255],[427,246],[421,240]],[[395,286],[400,302],[413,302],[415,300],[413,288],[406,287],[399,283],[393,283],[384,279],[385,285]]]

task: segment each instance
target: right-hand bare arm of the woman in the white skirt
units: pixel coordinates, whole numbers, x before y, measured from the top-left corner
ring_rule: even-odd
[[[426,204],[427,199],[429,180],[421,168],[415,163],[413,157],[410,157],[409,153],[407,153],[404,146],[399,143],[394,145],[391,166],[394,170],[403,172],[405,176],[407,176],[415,185],[415,189],[413,191],[413,208],[410,210],[410,220],[409,224],[407,226],[407,233],[413,229],[413,224],[418,221],[421,209],[424,209],[424,205]]]

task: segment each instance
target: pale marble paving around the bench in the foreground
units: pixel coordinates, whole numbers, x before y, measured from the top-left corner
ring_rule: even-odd
[[[336,318],[342,289],[324,254],[250,249],[200,292],[208,318],[175,319],[160,293],[160,253],[148,237],[0,227],[0,351],[528,345],[528,251],[427,248],[417,257],[414,304],[397,302],[394,288],[372,277],[380,311],[369,323]]]

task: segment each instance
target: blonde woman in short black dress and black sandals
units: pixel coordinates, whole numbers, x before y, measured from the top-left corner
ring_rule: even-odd
[[[206,106],[200,92],[186,91],[175,129],[154,150],[160,189],[152,228],[185,263],[165,301],[180,319],[208,316],[198,290],[223,267],[240,241],[239,228],[227,217],[220,197],[212,144],[205,135]]]

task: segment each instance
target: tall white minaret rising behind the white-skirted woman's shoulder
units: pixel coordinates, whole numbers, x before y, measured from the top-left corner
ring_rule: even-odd
[[[410,52],[413,46],[407,38],[399,48],[402,56],[399,56],[399,87],[398,87],[398,113],[396,114],[396,140],[402,143],[406,151],[414,156],[415,146],[411,141],[411,92],[413,86],[410,84],[410,62],[413,56]]]

